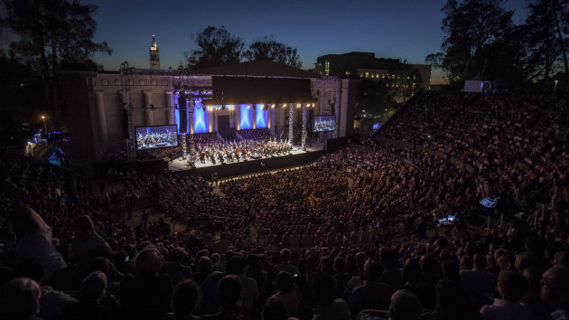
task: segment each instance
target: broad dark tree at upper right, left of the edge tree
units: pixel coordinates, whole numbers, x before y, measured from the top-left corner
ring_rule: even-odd
[[[443,52],[425,60],[440,64],[454,85],[477,75],[496,80],[518,76],[518,29],[511,19],[514,11],[505,10],[502,4],[501,0],[448,0],[442,9],[446,14]]]

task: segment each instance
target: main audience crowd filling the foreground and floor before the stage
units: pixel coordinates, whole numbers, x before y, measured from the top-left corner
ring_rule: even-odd
[[[222,195],[200,176],[118,180],[107,202],[155,200],[196,231],[187,236],[95,214],[89,182],[4,152],[0,318],[569,318],[566,172],[555,177],[565,206],[545,214],[519,197],[526,214],[480,230],[463,217],[494,193],[482,170],[413,146],[369,146],[222,182]],[[450,212],[452,228],[434,229]],[[206,231],[229,248],[202,243]]]

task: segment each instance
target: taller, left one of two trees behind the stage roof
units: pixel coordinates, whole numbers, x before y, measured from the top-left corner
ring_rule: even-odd
[[[186,62],[191,69],[238,63],[245,43],[233,36],[225,27],[208,25],[193,37],[199,49],[185,52]]]

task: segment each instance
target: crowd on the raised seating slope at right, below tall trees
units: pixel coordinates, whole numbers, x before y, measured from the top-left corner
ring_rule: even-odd
[[[474,166],[506,202],[546,202],[568,192],[568,106],[567,96],[429,92],[380,135]]]

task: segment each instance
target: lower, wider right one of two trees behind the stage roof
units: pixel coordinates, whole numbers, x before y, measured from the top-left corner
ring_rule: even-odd
[[[276,42],[268,37],[263,37],[249,44],[249,49],[243,53],[243,56],[247,61],[268,60],[284,63],[295,68],[303,66],[298,53],[296,53],[296,48],[282,42]]]

